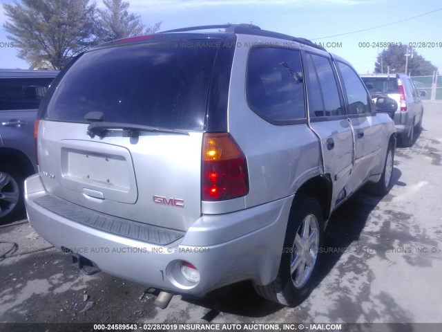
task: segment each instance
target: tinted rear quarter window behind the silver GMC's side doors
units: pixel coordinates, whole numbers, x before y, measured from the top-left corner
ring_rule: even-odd
[[[247,98],[253,111],[270,120],[305,118],[300,53],[285,48],[252,48]]]

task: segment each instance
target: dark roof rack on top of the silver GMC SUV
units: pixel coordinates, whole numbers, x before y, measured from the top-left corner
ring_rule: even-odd
[[[311,40],[309,39],[292,37],[289,35],[285,35],[283,33],[274,33],[273,31],[269,30],[262,30],[259,26],[255,26],[253,24],[218,24],[211,26],[189,26],[188,28],[166,30],[162,31],[161,33],[184,33],[186,31],[210,30],[210,29],[225,29],[226,33],[240,33],[244,35],[256,35],[262,37],[285,39],[291,42],[298,42],[300,44],[305,44],[314,48],[318,48],[320,50],[325,50],[323,46],[314,44],[314,42],[311,42]]]

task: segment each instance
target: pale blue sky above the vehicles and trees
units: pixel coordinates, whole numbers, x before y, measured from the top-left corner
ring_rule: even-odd
[[[12,1],[3,1],[3,3]],[[92,1],[91,1],[92,2]],[[358,73],[372,73],[382,43],[417,46],[442,73],[440,0],[128,0],[129,11],[161,30],[209,24],[252,23],[265,30],[321,43],[349,61]],[[102,6],[101,0],[97,1]],[[8,47],[0,8],[0,68],[23,68],[17,48]],[[381,44],[379,44],[381,43]],[[380,47],[379,47],[380,46]],[[420,47],[419,47],[420,46]],[[405,55],[403,57],[405,63]],[[412,74],[413,75],[413,74]]]

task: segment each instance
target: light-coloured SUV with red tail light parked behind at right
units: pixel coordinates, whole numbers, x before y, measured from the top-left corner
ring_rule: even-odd
[[[372,94],[383,94],[396,100],[398,107],[392,117],[401,145],[411,147],[415,133],[422,129],[423,105],[421,97],[425,91],[418,93],[410,77],[405,74],[365,74],[361,78]]]

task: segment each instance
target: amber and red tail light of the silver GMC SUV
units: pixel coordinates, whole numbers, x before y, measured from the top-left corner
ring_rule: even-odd
[[[224,201],[247,195],[247,160],[229,133],[204,133],[202,200]]]

